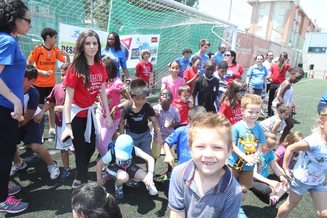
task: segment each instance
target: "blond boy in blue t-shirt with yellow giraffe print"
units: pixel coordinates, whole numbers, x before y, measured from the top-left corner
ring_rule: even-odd
[[[259,95],[246,94],[241,101],[241,113],[244,119],[232,126],[233,151],[228,160],[228,168],[235,178],[239,177],[242,186],[242,202],[248,188],[252,187],[254,164],[259,162],[258,156],[263,143],[267,142],[262,127],[255,121],[259,118],[262,99]],[[242,208],[238,217],[246,218]]]

